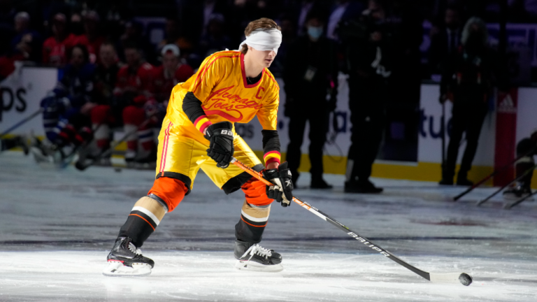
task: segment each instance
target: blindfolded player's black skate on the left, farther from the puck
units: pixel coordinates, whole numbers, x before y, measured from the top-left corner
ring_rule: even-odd
[[[103,275],[110,277],[149,275],[155,266],[155,261],[143,257],[142,251],[129,237],[117,238],[106,259],[108,266],[103,270]]]

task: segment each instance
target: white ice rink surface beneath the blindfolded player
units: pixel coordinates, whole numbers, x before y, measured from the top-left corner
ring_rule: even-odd
[[[154,172],[52,171],[3,152],[0,301],[537,301],[536,202],[503,210],[498,196],[478,208],[492,188],[454,203],[463,188],[380,179],[384,194],[343,194],[343,176],[326,178],[334,190],[295,195],[417,268],[464,271],[473,284],[430,283],[296,204],[273,204],[262,241],[285,270],[236,271],[243,194],[226,196],[203,173],[142,247],[152,274],[106,278],[106,254]]]

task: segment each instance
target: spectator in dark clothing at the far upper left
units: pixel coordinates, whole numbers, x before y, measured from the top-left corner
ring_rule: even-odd
[[[30,15],[20,12],[15,15],[16,36],[11,40],[10,55],[20,55],[22,60],[41,62],[41,35],[30,28]]]

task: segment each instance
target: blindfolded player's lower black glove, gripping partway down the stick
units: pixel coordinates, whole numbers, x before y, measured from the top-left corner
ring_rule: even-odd
[[[266,196],[278,201],[283,207],[290,206],[293,200],[293,182],[291,171],[287,168],[287,161],[280,164],[278,168],[264,170],[263,176],[274,184],[266,186]]]

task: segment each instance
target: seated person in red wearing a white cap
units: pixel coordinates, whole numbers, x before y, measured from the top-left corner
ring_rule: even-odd
[[[179,82],[186,82],[194,74],[175,44],[162,48],[162,65],[154,69],[151,92],[158,103],[168,105],[171,89]]]

